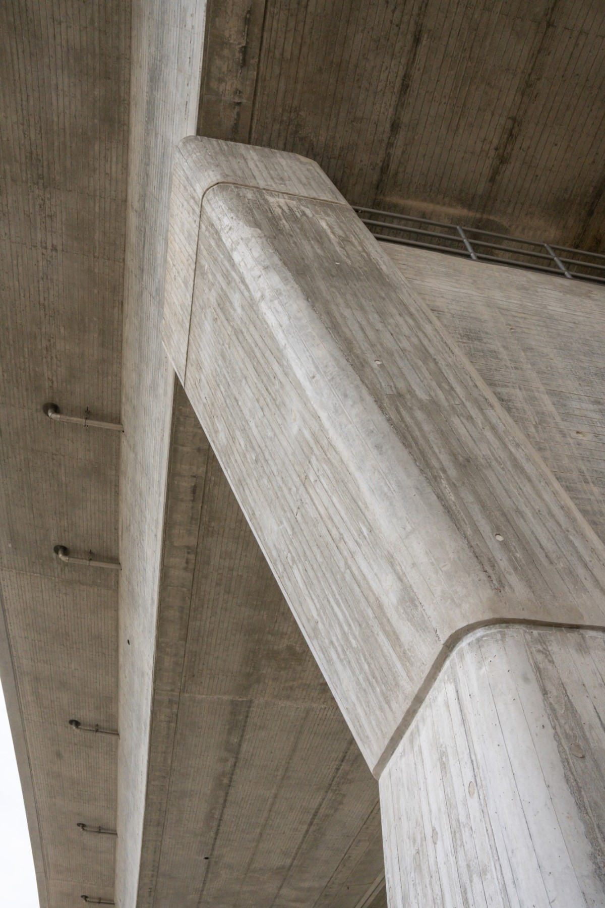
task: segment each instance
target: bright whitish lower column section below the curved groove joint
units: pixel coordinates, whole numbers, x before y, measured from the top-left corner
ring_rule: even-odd
[[[605,634],[454,649],[380,778],[389,905],[605,904]]]

